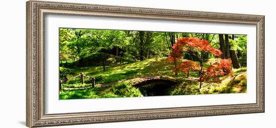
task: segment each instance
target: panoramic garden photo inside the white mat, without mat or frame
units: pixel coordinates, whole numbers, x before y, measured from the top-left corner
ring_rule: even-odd
[[[59,28],[59,99],[244,93],[247,36]]]

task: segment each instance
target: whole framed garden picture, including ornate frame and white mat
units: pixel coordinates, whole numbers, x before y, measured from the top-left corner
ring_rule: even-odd
[[[27,2],[27,126],[264,112],[264,15]]]

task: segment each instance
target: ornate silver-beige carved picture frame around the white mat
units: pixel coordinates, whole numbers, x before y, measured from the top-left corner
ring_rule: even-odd
[[[45,114],[44,16],[47,14],[255,24],[256,103]],[[26,124],[29,127],[264,112],[264,15],[31,0],[27,2],[26,41]]]

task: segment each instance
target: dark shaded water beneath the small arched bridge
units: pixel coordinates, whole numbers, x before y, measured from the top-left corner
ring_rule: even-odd
[[[166,84],[148,84],[138,87],[144,96],[169,95],[171,85]]]

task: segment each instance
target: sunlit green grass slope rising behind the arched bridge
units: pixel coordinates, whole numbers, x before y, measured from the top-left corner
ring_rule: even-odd
[[[174,76],[173,65],[166,62],[165,58],[152,58],[113,67],[106,66],[106,70],[103,70],[102,66],[76,66],[71,69],[76,75],[84,72],[86,76],[95,77],[96,83],[109,83],[135,76]]]

